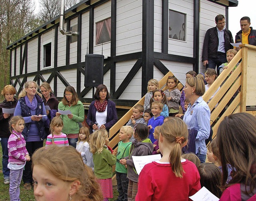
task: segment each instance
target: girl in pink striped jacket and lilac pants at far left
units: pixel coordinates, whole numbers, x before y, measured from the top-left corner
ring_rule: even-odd
[[[10,169],[10,200],[20,200],[20,181],[26,161],[30,156],[26,149],[26,141],[21,134],[24,129],[24,119],[15,116],[10,119],[11,135],[8,139],[8,165]]]

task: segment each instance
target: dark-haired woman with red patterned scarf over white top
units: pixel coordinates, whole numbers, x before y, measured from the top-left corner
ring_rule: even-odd
[[[93,130],[109,129],[117,122],[116,104],[109,100],[110,95],[104,84],[100,84],[94,94],[95,101],[89,106],[86,123]]]

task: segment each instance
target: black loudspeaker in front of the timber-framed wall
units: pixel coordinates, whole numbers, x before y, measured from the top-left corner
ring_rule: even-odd
[[[104,56],[101,54],[85,55],[85,87],[97,87],[103,84]]]

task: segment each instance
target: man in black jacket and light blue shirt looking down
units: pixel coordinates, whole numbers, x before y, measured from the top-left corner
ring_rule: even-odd
[[[226,52],[233,49],[233,37],[230,30],[226,29],[224,15],[215,17],[216,27],[207,30],[204,37],[202,62],[205,68],[215,69],[226,63]],[[218,71],[219,74],[219,71]]]

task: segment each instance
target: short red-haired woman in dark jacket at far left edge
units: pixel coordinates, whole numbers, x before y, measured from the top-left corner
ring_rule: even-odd
[[[2,170],[4,174],[4,184],[10,183],[10,170],[8,169],[8,147],[7,142],[11,135],[9,128],[9,120],[13,116],[13,113],[3,113],[2,108],[11,109],[16,107],[17,99],[14,98],[16,90],[11,85],[6,85],[2,90],[4,101],[0,103],[0,142],[2,146]]]

